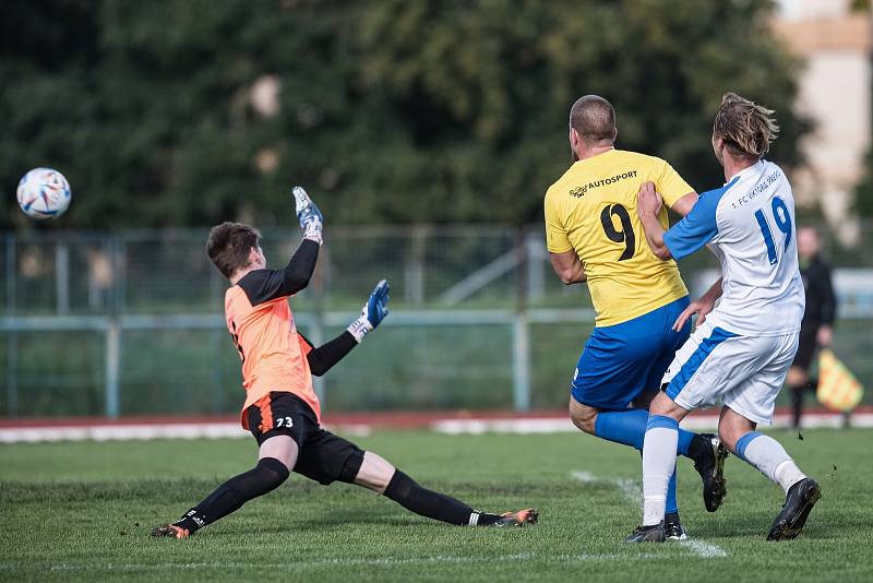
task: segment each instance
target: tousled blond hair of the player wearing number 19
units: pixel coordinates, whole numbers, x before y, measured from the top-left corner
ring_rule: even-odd
[[[725,140],[734,156],[761,159],[779,133],[774,112],[736,93],[726,93],[713,123],[713,139]]]

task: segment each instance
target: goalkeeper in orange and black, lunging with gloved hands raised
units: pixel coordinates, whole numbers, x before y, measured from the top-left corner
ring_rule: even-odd
[[[322,243],[322,214],[307,192],[294,189],[304,236],[284,270],[267,270],[261,234],[224,223],[212,229],[206,252],[231,286],[225,295],[227,329],[242,361],[242,427],[258,440],[258,464],[222,484],[178,521],[153,536],[187,538],[277,488],[291,472],[323,485],[363,486],[422,516],[457,525],[522,526],[535,523],[534,509],[505,514],[474,510],[429,490],[380,455],[321,427],[312,374],[321,376],[357,346],[387,316],[388,284],[375,286],[360,317],[326,344],[313,347],[297,331],[288,298],[309,284]]]

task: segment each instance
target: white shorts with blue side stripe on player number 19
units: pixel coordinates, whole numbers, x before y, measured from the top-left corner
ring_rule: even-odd
[[[740,336],[704,322],[675,353],[661,383],[682,408],[721,401],[750,421],[769,425],[799,337]]]

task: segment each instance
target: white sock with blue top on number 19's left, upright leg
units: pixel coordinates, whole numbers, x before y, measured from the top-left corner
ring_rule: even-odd
[[[675,468],[679,424],[669,417],[653,415],[643,440],[643,526],[663,520],[667,487]]]

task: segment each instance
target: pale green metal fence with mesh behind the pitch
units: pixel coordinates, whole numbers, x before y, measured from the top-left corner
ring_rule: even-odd
[[[873,386],[873,260],[829,240],[841,300],[835,349]],[[296,229],[265,233],[284,265]],[[0,235],[0,415],[227,414],[242,402],[206,230]],[[716,276],[681,263],[693,291]],[[379,279],[392,314],[316,383],[330,411],[564,406],[594,313],[551,273],[541,228],[459,225],[328,231],[300,329],[328,340]],[[870,395],[868,402],[873,402]]]

